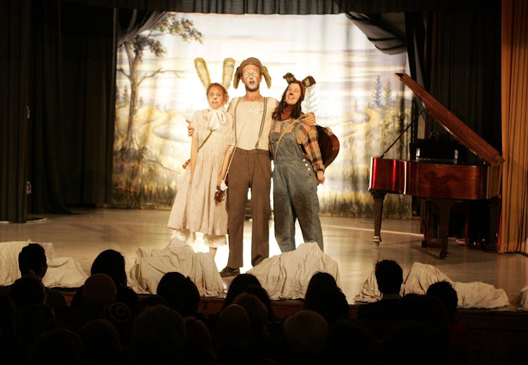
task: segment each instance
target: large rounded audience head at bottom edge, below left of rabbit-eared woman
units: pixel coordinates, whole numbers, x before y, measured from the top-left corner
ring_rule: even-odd
[[[145,308],[134,320],[132,348],[137,364],[180,363],[187,331],[183,317],[158,304]]]

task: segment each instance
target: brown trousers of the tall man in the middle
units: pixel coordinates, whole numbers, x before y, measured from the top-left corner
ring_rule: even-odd
[[[251,190],[252,216],[251,264],[257,265],[269,256],[269,216],[271,206],[271,161],[269,151],[263,149],[235,149],[228,175],[228,238],[227,266],[244,266],[244,220],[247,192]]]

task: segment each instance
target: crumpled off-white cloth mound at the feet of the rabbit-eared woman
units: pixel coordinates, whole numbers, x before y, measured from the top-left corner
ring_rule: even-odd
[[[188,276],[201,296],[223,292],[223,280],[209,252],[194,252],[189,245],[167,245],[164,249],[137,249],[137,259],[130,269],[130,285],[140,294],[156,294],[159,280],[177,271]]]

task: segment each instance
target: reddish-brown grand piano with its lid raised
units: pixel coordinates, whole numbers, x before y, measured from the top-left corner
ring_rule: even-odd
[[[373,157],[370,168],[369,192],[374,198],[374,238],[381,242],[381,216],[386,193],[408,194],[434,202],[438,209],[437,233],[441,244],[440,258],[448,256],[448,227],[450,208],[455,202],[491,199],[501,189],[503,157],[471,128],[434,99],[409,75],[396,73],[422,100],[429,115],[440,123],[450,135],[471,151],[479,163],[465,164],[453,161],[423,159],[419,151],[411,154],[410,161]],[[456,156],[455,156],[456,157]],[[422,218],[422,222],[424,219]],[[427,223],[424,223],[427,225]],[[424,228],[422,246],[431,241],[431,229]]]

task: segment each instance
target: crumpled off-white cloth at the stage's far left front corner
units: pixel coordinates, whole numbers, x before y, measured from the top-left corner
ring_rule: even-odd
[[[0,285],[11,285],[20,278],[18,254],[31,240],[0,242]],[[46,287],[80,287],[87,274],[80,264],[71,257],[56,257],[52,243],[35,242],[44,247],[48,270],[42,279]]]

